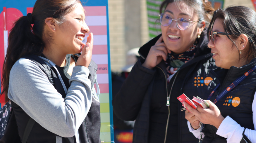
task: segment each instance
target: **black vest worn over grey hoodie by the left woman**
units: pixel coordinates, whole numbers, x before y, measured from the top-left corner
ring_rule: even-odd
[[[79,55],[78,55],[79,56]],[[34,57],[35,58],[35,57]],[[40,64],[45,64],[44,61],[42,59],[35,59],[36,61],[39,62],[40,60]],[[57,67],[57,66],[56,66]],[[64,75],[64,73],[61,71],[61,69],[59,69],[57,67],[59,73],[61,74],[61,77],[66,85],[66,88],[69,88],[69,83],[68,83],[68,79],[66,78],[66,76]],[[94,86],[94,82],[95,82],[95,76],[96,76],[96,70],[97,70],[97,64],[91,60],[91,63],[88,67],[88,69],[90,70],[90,74],[88,76],[88,78],[91,81],[91,87]],[[51,68],[51,75],[53,77],[54,80],[54,87],[55,89],[62,95],[63,98],[66,97],[66,93],[62,87],[62,84],[59,80],[59,77],[56,76],[57,72],[56,70],[52,67]],[[30,118],[30,116],[28,116],[28,114],[25,113],[25,111],[23,109],[21,109],[16,103],[12,102],[12,108],[13,108],[13,112],[15,114],[16,117],[16,121],[17,121],[17,125],[18,125],[18,133],[20,138],[23,138],[23,134],[25,131],[25,127],[28,123],[28,120]],[[47,106],[47,105],[46,105]],[[51,120],[49,119],[49,122]],[[99,138],[99,133],[100,133],[100,103],[95,100],[95,98],[92,98],[92,105],[90,107],[90,110],[84,120],[84,122],[80,125],[79,129],[78,129],[78,133],[79,133],[79,139],[80,139],[80,143],[100,143],[100,138]],[[46,130],[45,128],[43,128],[41,125],[39,125],[37,122],[35,122],[30,135],[28,137],[27,142],[28,143],[56,143],[56,134]],[[62,142],[63,143],[76,143],[75,140],[75,136],[73,137],[62,137]]]

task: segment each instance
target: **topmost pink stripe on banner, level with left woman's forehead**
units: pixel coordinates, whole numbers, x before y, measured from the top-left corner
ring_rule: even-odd
[[[86,16],[107,15],[106,6],[84,6]]]

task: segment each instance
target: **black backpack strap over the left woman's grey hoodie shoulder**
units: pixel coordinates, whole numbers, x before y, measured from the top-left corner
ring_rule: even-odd
[[[52,85],[54,85],[54,81],[51,77],[51,68],[44,62],[44,60],[42,60],[41,58],[39,58],[36,55],[24,55],[21,58],[25,58],[25,59],[29,59],[33,62],[35,62],[36,64],[38,64],[38,66],[40,67],[40,69],[42,69],[42,71],[46,74],[46,76],[48,77],[50,83]]]

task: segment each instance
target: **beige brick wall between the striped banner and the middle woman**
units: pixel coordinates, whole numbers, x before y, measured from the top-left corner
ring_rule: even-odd
[[[136,26],[139,27],[138,29],[140,29],[140,34],[130,33],[127,35],[127,33],[125,33],[127,30],[125,29],[125,27],[127,28],[127,21],[125,23],[125,20],[131,20],[126,18],[127,14],[125,15],[125,11],[135,11],[135,9],[132,9],[133,7],[125,9],[125,3],[129,3],[129,0],[109,0],[110,59],[112,71],[121,71],[121,68],[126,65],[126,52],[129,49],[140,47],[149,40],[146,0],[140,0],[140,13],[138,15],[131,15],[140,17],[137,18],[140,20],[139,22],[133,22],[133,24],[136,23]],[[137,37],[137,39],[140,39],[140,42],[129,47],[127,44],[129,39],[126,39],[125,36]]]

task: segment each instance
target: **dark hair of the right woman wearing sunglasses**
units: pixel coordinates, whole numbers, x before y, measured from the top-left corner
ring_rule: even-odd
[[[226,9],[218,9],[214,12],[212,21],[210,22],[207,35],[209,37],[209,32],[212,30],[214,21],[219,18],[222,21],[224,27],[224,32],[228,39],[233,42],[236,46],[235,39],[237,39],[240,34],[245,34],[248,36],[249,48],[245,49],[243,54],[239,54],[239,60],[247,58],[247,62],[256,57],[256,12],[251,8],[245,6],[232,6]],[[228,33],[231,33],[228,36]],[[234,48],[234,47],[233,47]],[[239,49],[236,46],[238,53]]]

